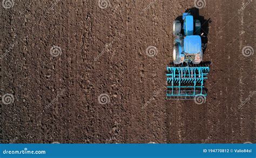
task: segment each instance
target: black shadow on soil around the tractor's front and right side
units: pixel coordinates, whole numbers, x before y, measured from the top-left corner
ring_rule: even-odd
[[[201,31],[200,31],[200,33],[201,33],[201,35],[203,33],[203,35],[201,36],[202,50],[203,50],[203,53],[205,54],[205,51],[206,51],[207,45],[208,45],[207,35],[209,34],[209,23],[211,23],[212,20],[211,20],[211,18],[205,19],[204,16],[200,16],[199,15],[199,9],[197,9],[197,8],[190,8],[190,9],[187,9],[185,12],[190,12],[191,15],[194,17],[194,19],[200,20],[200,23],[201,23]],[[182,16],[178,16],[176,18],[176,20],[183,21],[182,20]]]

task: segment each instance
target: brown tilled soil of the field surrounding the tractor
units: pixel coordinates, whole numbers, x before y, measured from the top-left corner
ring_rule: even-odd
[[[256,142],[255,1],[206,1],[205,104],[165,100],[172,22],[194,1],[15,1],[1,6],[2,143]],[[50,49],[62,54],[53,57]],[[156,46],[157,56],[146,49]],[[110,102],[99,104],[106,93]],[[248,100],[248,98],[250,98]],[[242,101],[246,104],[239,108]],[[147,101],[150,101],[147,104]]]

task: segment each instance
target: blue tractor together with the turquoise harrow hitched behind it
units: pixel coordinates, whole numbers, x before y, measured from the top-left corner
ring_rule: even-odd
[[[200,32],[200,21],[189,12],[173,22],[173,65],[167,66],[167,99],[194,99],[198,95],[206,98],[204,82],[210,67],[201,66]]]

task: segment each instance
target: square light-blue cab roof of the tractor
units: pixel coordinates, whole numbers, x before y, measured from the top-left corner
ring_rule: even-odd
[[[201,37],[197,35],[186,36],[184,39],[184,52],[196,54],[201,52]]]

